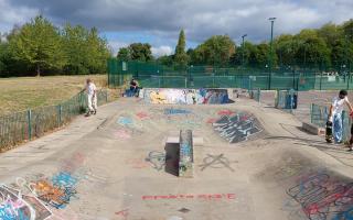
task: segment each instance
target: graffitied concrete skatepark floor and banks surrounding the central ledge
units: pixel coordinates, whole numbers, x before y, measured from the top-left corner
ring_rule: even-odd
[[[193,178],[175,175],[182,129],[194,135]],[[122,98],[0,154],[0,219],[352,219],[352,153],[249,99]]]

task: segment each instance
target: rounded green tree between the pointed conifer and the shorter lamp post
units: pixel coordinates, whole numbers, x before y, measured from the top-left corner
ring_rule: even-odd
[[[215,35],[194,51],[194,62],[199,64],[225,66],[235,54],[235,43],[228,35]]]

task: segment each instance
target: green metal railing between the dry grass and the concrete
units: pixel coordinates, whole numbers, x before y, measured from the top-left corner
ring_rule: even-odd
[[[40,107],[0,117],[0,151],[25,140],[39,138],[68,123],[86,111],[87,95],[79,92],[71,99],[49,107]],[[107,90],[97,94],[98,106],[108,101]]]

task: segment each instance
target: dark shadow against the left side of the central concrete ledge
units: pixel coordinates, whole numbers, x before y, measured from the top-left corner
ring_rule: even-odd
[[[165,172],[168,174],[179,176],[179,144],[167,143],[165,144]]]

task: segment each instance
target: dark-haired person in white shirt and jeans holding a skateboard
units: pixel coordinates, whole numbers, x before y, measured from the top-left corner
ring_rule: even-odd
[[[338,97],[334,97],[330,107],[329,121],[332,122],[333,139],[335,143],[342,143],[343,129],[342,129],[342,111],[346,105],[350,112],[353,112],[352,105],[347,98],[347,91],[341,90]]]

